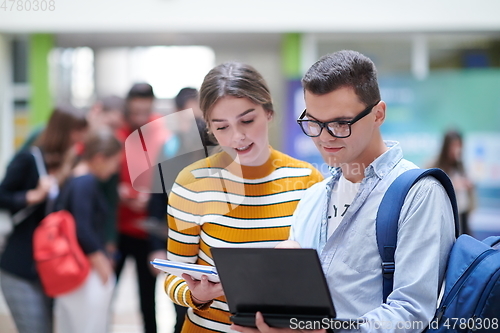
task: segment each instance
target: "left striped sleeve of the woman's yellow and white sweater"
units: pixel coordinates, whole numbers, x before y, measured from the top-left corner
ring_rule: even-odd
[[[172,261],[196,263],[198,260],[200,225],[199,212],[196,208],[196,193],[185,197],[181,193],[189,186],[189,172],[183,170],[172,188],[168,199],[167,220],[169,226],[167,258]],[[191,182],[192,184],[192,182]],[[202,306],[194,304],[191,291],[184,279],[174,275],[167,275],[165,279],[165,292],[174,303],[192,307],[198,310],[208,310],[210,304]]]

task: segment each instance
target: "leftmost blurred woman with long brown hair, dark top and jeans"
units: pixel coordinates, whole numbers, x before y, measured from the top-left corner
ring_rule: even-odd
[[[29,209],[8,237],[0,259],[0,285],[19,333],[52,332],[52,301],[44,294],[36,271],[33,232],[51,212],[59,186],[74,166],[75,145],[86,130],[82,112],[56,108],[34,142],[48,175],[39,175],[34,155],[24,150],[14,156],[0,184],[0,208],[11,214]]]

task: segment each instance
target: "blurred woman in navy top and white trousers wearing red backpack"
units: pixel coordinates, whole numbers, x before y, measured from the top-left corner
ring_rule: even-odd
[[[81,161],[58,198],[58,210],[67,210],[75,218],[78,243],[91,270],[76,290],[55,297],[56,332],[108,332],[116,278],[106,253],[110,207],[101,184],[118,171],[121,148],[109,128],[93,130],[85,140]]]

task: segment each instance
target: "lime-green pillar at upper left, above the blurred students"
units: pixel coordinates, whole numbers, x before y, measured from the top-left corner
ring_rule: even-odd
[[[49,87],[48,56],[54,47],[52,34],[33,34],[29,48],[29,83],[31,87],[31,124],[45,123],[52,112],[53,102]]]

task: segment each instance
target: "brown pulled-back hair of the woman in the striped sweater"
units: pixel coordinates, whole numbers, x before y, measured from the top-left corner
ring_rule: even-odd
[[[222,97],[248,98],[274,113],[271,93],[266,81],[255,68],[239,62],[226,62],[214,67],[203,80],[200,89],[200,109],[209,122],[210,112]]]

